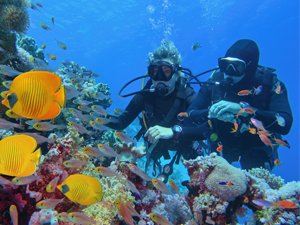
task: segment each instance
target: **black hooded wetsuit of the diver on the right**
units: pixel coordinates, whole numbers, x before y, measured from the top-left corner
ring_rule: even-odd
[[[210,81],[219,81],[225,85],[203,86],[200,89],[197,97],[188,109],[190,117],[199,125],[197,127],[184,127],[182,138],[197,137],[204,139],[215,132],[218,135],[218,140],[215,141],[214,149],[212,150],[216,150],[217,143],[220,142],[223,145],[223,157],[229,162],[237,161],[241,157],[240,162],[243,169],[260,166],[272,169],[274,160],[278,157],[277,148],[274,147],[272,150],[271,147],[266,146],[260,140],[258,134],[251,134],[247,129],[240,132],[241,126],[245,128],[246,125],[249,125],[252,115],[248,117],[240,116],[239,130],[234,133],[231,132],[233,128],[232,123],[211,119],[213,129],[208,133],[208,109],[212,104],[220,100],[249,103],[251,107],[257,109],[253,117],[261,121],[265,128],[277,135],[277,137],[287,134],[293,122],[285,85],[277,79],[275,74],[263,72],[261,67],[257,66],[258,48],[256,44],[249,40],[237,42],[228,50],[226,57],[228,56],[242,58],[246,62],[254,62],[254,64],[250,68],[248,67],[246,77],[236,85],[230,86],[226,84],[223,74],[217,73]],[[260,85],[262,90],[258,94],[237,95],[241,90],[253,90],[253,88],[258,88]],[[280,93],[276,93],[278,85],[281,88]],[[277,113],[284,118],[284,126],[280,126],[276,121]]]

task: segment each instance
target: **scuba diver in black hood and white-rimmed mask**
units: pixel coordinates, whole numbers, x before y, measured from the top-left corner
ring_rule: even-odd
[[[194,126],[181,128],[180,139],[206,139],[211,151],[243,169],[278,165],[281,139],[290,131],[293,116],[285,85],[275,69],[258,65],[259,48],[248,39],[235,42],[218,59],[219,71],[203,84],[187,110]],[[203,82],[205,83],[205,82]],[[166,127],[150,128],[150,142],[174,136]],[[207,132],[210,130],[210,132]],[[177,134],[178,136],[178,134]]]

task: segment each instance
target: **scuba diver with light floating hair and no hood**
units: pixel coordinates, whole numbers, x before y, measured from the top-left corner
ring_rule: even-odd
[[[149,54],[148,73],[142,78],[150,77],[145,87],[138,92],[127,95],[120,93],[124,88],[139,79],[140,77],[128,82],[120,91],[120,96],[127,97],[134,94],[125,111],[106,126],[123,130],[143,112],[142,129],[136,136],[139,139],[149,127],[155,125],[172,127],[178,123],[177,114],[187,110],[191,104],[195,91],[187,85],[187,80],[183,76],[184,68],[180,67],[181,56],[175,45],[166,41]],[[188,69],[186,69],[188,70]],[[179,126],[174,126],[174,132]],[[176,154],[171,162],[162,168],[160,164],[161,156],[170,159],[168,150],[176,150]],[[177,142],[174,140],[160,140],[147,148],[146,170],[150,160],[153,160],[153,176],[156,176],[158,169],[161,179],[165,182],[172,173],[173,164],[179,163],[180,156],[185,159],[196,158],[197,153],[192,148],[192,141],[189,139]]]

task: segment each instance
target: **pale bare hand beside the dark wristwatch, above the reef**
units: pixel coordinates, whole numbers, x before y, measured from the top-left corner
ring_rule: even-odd
[[[154,127],[150,127],[144,137],[147,138],[150,143],[155,143],[159,139],[170,139],[173,135],[174,133],[171,128],[156,125]]]

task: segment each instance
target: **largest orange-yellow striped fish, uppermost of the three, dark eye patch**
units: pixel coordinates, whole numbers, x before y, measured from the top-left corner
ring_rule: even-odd
[[[37,120],[57,117],[66,99],[61,78],[47,71],[20,74],[2,96],[2,104],[14,114]]]

